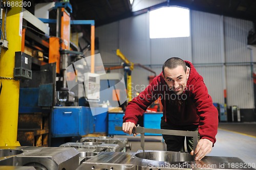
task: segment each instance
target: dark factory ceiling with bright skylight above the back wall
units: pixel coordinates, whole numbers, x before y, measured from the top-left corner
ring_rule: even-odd
[[[37,3],[57,2],[35,0]],[[106,25],[131,16],[143,14],[160,7],[180,6],[190,10],[203,11],[223,16],[256,20],[255,0],[70,0],[71,18],[75,20],[95,20],[95,27]],[[89,26],[82,26],[90,34]]]

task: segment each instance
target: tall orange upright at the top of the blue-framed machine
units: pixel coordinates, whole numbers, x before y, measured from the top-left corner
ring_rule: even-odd
[[[69,50],[70,44],[70,16],[69,13],[65,11],[65,8],[61,8],[61,33],[60,37],[62,39],[61,48],[62,50]]]

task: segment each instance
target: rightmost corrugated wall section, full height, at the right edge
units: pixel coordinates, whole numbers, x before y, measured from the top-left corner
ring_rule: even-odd
[[[253,83],[247,35],[253,28],[251,21],[225,17],[225,57],[227,63],[228,105],[253,108]]]

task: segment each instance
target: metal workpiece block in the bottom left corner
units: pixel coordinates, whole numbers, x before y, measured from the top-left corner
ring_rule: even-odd
[[[0,166],[33,166],[37,170],[73,170],[79,152],[59,147],[0,147]]]

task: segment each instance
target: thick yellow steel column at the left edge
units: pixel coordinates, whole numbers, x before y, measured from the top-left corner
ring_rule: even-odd
[[[10,5],[22,0],[8,1]],[[19,3],[18,3],[19,4]],[[2,92],[0,94],[0,145],[17,146],[19,81],[13,79],[15,52],[22,48],[22,7],[12,7],[6,18],[6,38],[9,41],[8,50],[1,49],[0,79]],[[5,16],[5,14],[3,14]],[[4,25],[4,17],[3,17]],[[4,26],[2,27],[3,32]]]

